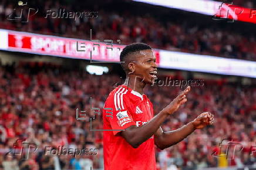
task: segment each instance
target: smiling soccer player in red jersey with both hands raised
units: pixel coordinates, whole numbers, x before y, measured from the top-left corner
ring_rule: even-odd
[[[213,124],[213,114],[202,113],[183,127],[164,132],[160,125],[186,103],[190,86],[154,116],[153,105],[143,94],[146,84],[156,79],[153,50],[144,43],[133,43],[124,47],[120,61],[126,80],[107,97],[104,108],[112,108],[112,113],[103,110],[104,166],[106,170],[156,169],[154,145],[164,149],[177,144],[194,130]]]

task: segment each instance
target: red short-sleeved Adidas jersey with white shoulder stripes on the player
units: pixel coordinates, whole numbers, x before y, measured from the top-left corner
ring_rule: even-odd
[[[111,91],[103,109],[104,168],[114,169],[154,169],[156,158],[154,153],[154,135],[133,148],[120,135],[120,131],[131,125],[141,126],[153,118],[153,105],[145,94],[121,85]],[[112,108],[107,110],[106,108]]]

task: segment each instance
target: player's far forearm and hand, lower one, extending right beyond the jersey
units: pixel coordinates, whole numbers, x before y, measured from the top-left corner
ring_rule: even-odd
[[[195,120],[174,131],[164,132],[160,127],[156,134],[154,134],[155,144],[160,149],[168,148],[182,141],[194,130],[204,128],[209,124],[213,124],[213,121],[213,114],[206,112],[198,115]]]

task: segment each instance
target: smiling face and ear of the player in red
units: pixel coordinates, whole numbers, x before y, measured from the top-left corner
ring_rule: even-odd
[[[132,64],[134,63],[134,64]],[[136,79],[151,84],[157,79],[157,64],[156,56],[154,56],[153,50],[141,50],[136,54],[136,61],[129,64],[131,70],[128,74],[134,74]]]

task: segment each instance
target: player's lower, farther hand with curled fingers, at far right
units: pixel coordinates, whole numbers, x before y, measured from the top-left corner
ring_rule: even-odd
[[[198,115],[197,118],[195,118],[192,123],[196,129],[201,129],[206,127],[207,125],[213,125],[214,121],[214,115],[210,112],[204,112]]]

